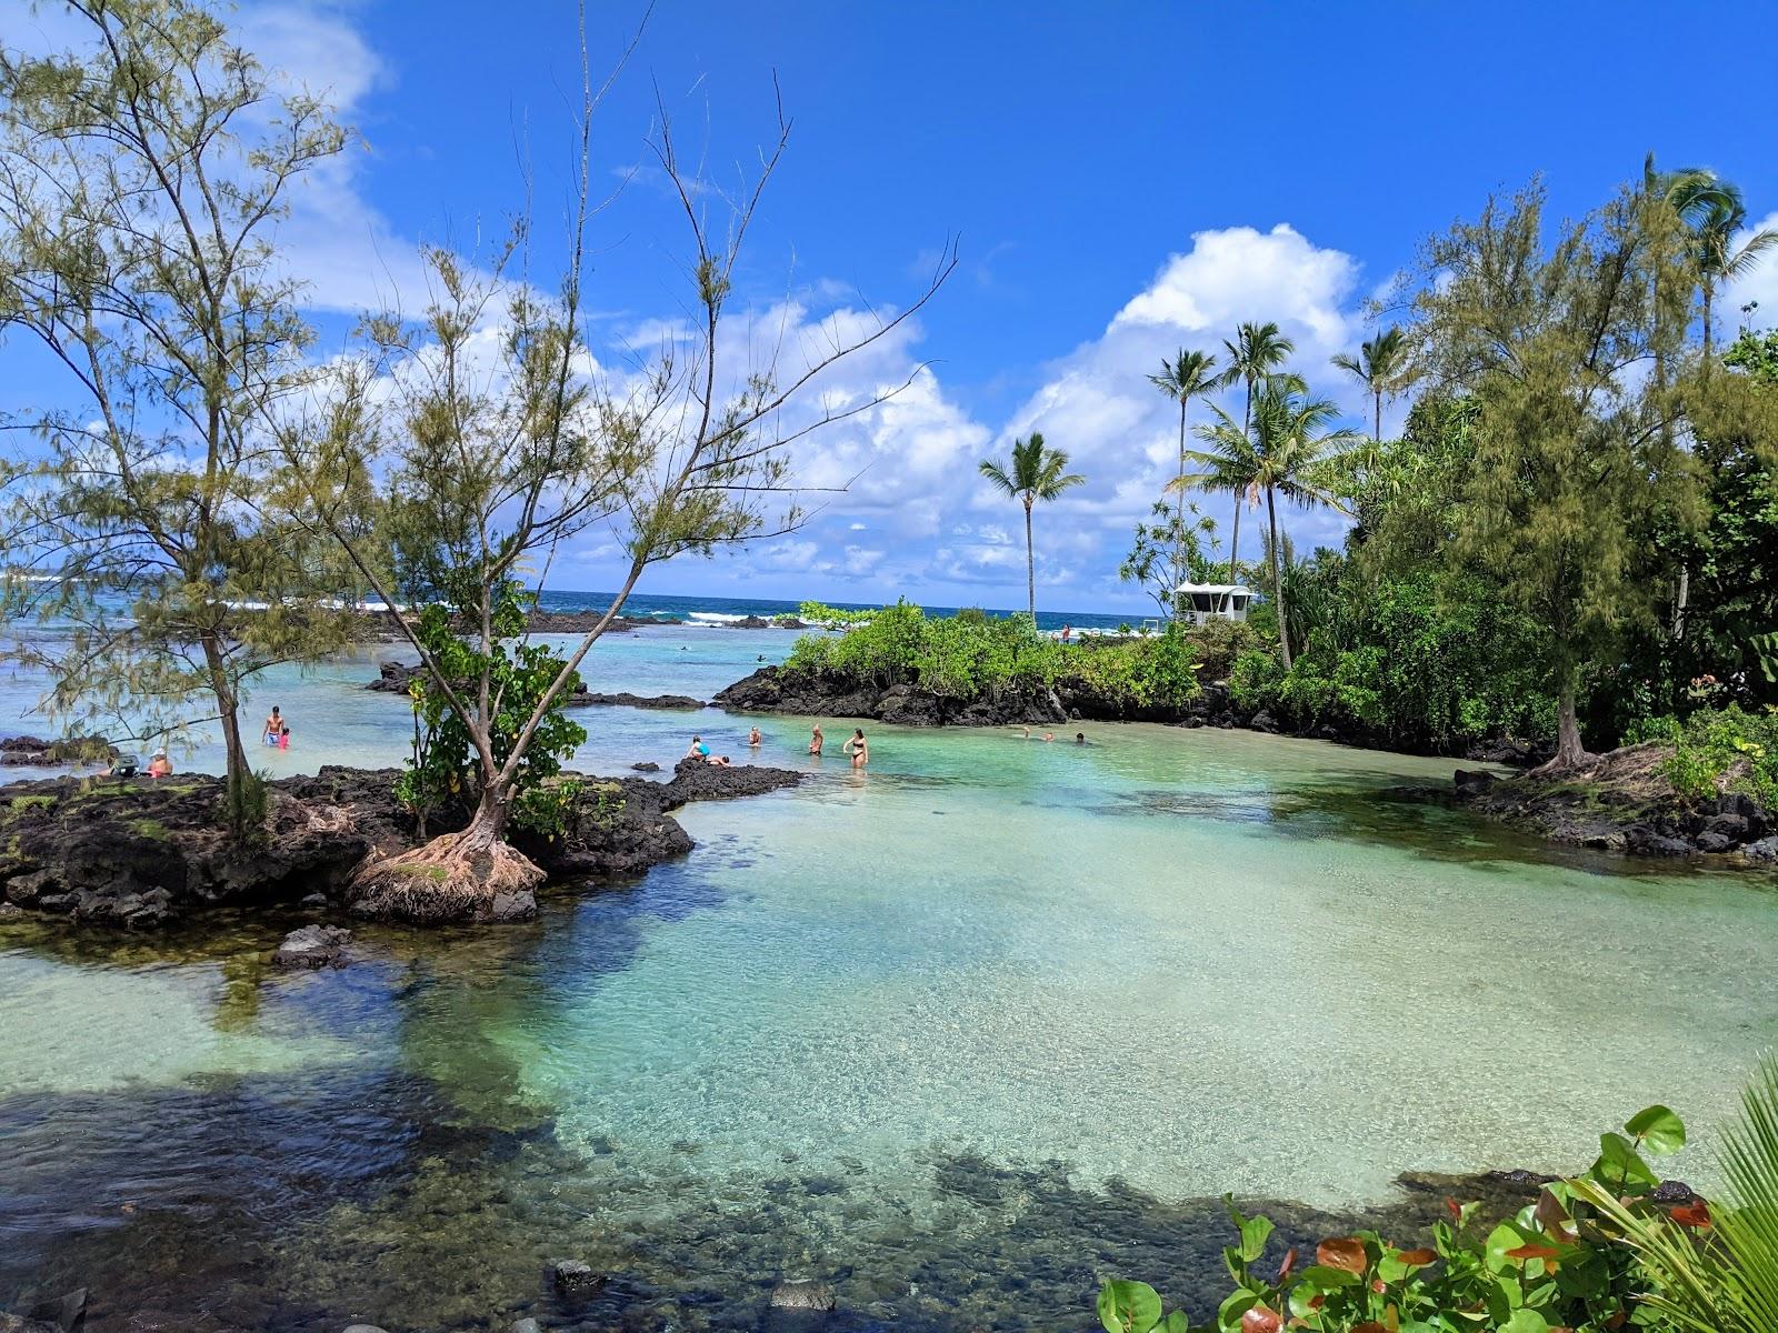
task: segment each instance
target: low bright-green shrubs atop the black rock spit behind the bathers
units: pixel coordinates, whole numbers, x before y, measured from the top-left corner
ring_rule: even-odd
[[[907,601],[845,635],[804,635],[784,665],[878,690],[907,684],[942,698],[997,700],[1074,688],[1117,706],[1170,709],[1198,695],[1191,636],[1179,626],[1152,638],[1063,647],[1040,635],[1028,615],[965,610],[928,617]]]

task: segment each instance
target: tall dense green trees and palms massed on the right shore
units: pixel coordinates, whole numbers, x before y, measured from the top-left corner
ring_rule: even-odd
[[[1184,483],[1234,494],[1236,519],[1275,492],[1353,526],[1298,556],[1268,499],[1262,558],[1230,574],[1266,587],[1252,624],[1271,643],[1229,665],[1236,702],[1403,748],[1556,739],[1563,768],[1588,761],[1582,738],[1664,718],[1678,734],[1707,706],[1760,730],[1778,704],[1778,336],[1709,343],[1712,283],[1771,245],[1725,217],[1744,217],[1732,185],[1652,167],[1559,227],[1536,188],[1490,201],[1428,243],[1399,293],[1410,323],[1335,359],[1371,393],[1364,441],[1287,339],[1243,325],[1243,416],[1198,428]],[[1675,761],[1682,789],[1707,750]]]

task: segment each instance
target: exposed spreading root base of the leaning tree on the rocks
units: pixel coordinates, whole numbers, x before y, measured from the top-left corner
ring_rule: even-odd
[[[418,926],[530,921],[544,873],[505,842],[466,850],[464,834],[395,857],[372,857],[347,885],[352,915]]]

